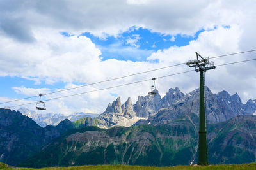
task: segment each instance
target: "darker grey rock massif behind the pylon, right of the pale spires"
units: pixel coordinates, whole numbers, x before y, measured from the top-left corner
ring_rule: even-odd
[[[156,115],[150,116],[148,120],[140,120],[136,123],[138,124],[168,124],[168,122],[173,120],[173,117],[181,115],[199,115],[199,89],[193,90],[192,92],[184,95],[179,94],[172,97],[175,90],[170,89],[166,97],[162,99],[161,109]],[[177,90],[179,92],[179,90]],[[180,96],[180,97],[179,97]],[[173,103],[166,102],[173,100]],[[169,104],[169,106],[168,106]],[[167,107],[163,107],[167,106]],[[236,117],[237,115],[253,115],[256,113],[256,102],[255,100],[249,100],[246,104],[241,102],[238,94],[230,96],[228,92],[220,92],[218,94],[213,94],[208,87],[205,87],[205,113],[207,122],[218,123],[229,120],[230,118]]]

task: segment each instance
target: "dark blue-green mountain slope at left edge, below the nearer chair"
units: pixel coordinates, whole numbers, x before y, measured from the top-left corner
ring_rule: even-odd
[[[69,120],[43,128],[19,111],[0,108],[0,162],[15,165],[71,128]]]

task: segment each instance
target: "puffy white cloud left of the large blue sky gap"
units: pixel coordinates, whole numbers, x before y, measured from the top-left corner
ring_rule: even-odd
[[[84,72],[96,76],[100,50],[85,36],[64,37],[58,32],[35,32],[33,45],[1,37],[0,74],[56,81],[84,81]]]

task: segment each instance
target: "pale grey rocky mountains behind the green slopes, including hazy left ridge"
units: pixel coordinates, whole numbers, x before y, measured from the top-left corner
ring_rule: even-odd
[[[250,99],[246,104],[243,104],[237,93],[230,95],[226,91],[221,91],[218,94],[213,94],[208,87],[205,87],[205,101],[207,121],[212,123],[223,122],[236,115],[256,114],[256,99]],[[42,127],[58,125],[66,118],[73,122],[80,118],[90,117],[88,125],[93,125],[97,122],[98,127],[109,128],[113,126],[130,127],[133,124],[140,124],[140,122],[154,124],[152,118],[155,115],[161,117],[160,115],[163,114],[164,110],[174,115],[175,113],[185,112],[198,115],[199,89],[184,94],[177,87],[175,89],[171,88],[163,98],[157,92],[155,96],[139,96],[135,104],[132,104],[131,97],[123,104],[120,97],[117,97],[113,103],[109,103],[106,110],[100,115],[92,113],[74,113],[72,115],[63,115],[61,113],[38,114],[27,108],[20,108],[18,111],[31,117]],[[154,118],[154,120],[156,121],[157,119]]]

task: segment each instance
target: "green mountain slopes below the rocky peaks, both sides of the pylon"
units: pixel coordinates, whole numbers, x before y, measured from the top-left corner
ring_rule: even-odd
[[[210,164],[255,162],[256,117],[235,117],[208,131]],[[171,125],[86,127],[71,129],[17,166],[189,165],[196,162],[196,145],[197,131],[186,117]]]

